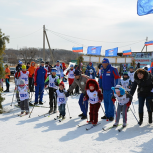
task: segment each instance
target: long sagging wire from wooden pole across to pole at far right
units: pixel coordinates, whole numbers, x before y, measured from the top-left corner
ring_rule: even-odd
[[[144,41],[144,40],[145,40],[145,39],[142,39],[142,40],[126,41],[126,42],[107,42],[107,41],[97,41],[97,40],[91,40],[91,39],[79,38],[79,37],[74,37],[74,36],[70,36],[70,35],[62,34],[62,33],[55,32],[55,31],[52,31],[52,30],[49,30],[49,29],[46,29],[46,30],[51,31],[51,32],[54,32],[54,33],[56,33],[56,34],[64,35],[64,36],[67,36],[67,37],[72,37],[72,38],[82,39],[82,40],[87,40],[87,41],[93,41],[93,42],[104,42],[104,43],[127,43],[127,42],[136,42],[136,41],[142,41],[142,40]]]

